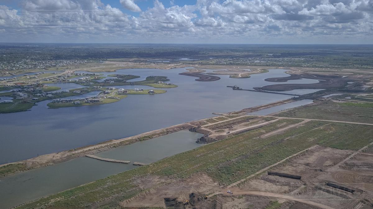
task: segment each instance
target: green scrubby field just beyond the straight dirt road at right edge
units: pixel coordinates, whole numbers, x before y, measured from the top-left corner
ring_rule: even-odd
[[[295,107],[276,116],[372,123],[373,109],[328,101],[319,105]]]

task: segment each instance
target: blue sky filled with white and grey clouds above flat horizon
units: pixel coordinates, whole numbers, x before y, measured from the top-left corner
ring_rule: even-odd
[[[0,0],[0,42],[373,44],[373,0]]]

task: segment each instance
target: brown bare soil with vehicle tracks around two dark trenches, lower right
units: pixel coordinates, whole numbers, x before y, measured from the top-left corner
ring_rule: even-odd
[[[352,153],[350,150],[317,146],[271,170],[298,175],[301,176],[301,180],[263,174],[238,187],[226,190],[231,190],[233,194],[245,193],[245,191],[280,193],[299,201],[322,204],[323,208],[370,208],[373,203],[373,170],[361,173],[361,171],[344,170],[344,165],[338,166],[340,161],[348,158]],[[372,161],[373,156],[364,159]],[[345,164],[348,164],[348,161]],[[326,186],[326,182],[352,188],[355,192],[350,193]]]

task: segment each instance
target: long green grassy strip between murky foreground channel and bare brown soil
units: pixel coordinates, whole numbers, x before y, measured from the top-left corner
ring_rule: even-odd
[[[372,131],[360,135],[366,126],[319,121],[307,122],[303,126],[258,140],[258,136],[300,121],[281,119],[268,126],[164,158],[151,165],[41,198],[20,208],[115,208],[119,202],[151,189],[139,187],[135,183],[138,178],[147,175],[186,178],[203,172],[221,184],[230,184],[316,144],[335,146],[345,143],[345,147],[358,149],[373,141]],[[346,129],[351,134],[338,135]],[[333,135],[338,137],[331,138]],[[351,136],[361,139],[356,143],[355,140],[348,140]],[[148,173],[150,166],[152,174]],[[276,205],[277,203],[273,203],[270,206]]]

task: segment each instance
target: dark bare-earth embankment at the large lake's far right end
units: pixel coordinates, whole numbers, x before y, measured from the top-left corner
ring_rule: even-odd
[[[291,74],[288,77],[267,78],[265,81],[270,82],[286,82],[289,80],[300,80],[302,78],[319,80],[319,83],[311,84],[273,84],[263,87],[256,87],[256,90],[266,91],[289,91],[294,89],[346,89],[346,90],[361,90],[363,82],[368,81],[364,75],[349,75],[344,77],[336,74]],[[348,84],[348,82],[355,82]],[[360,83],[358,83],[360,82]]]

